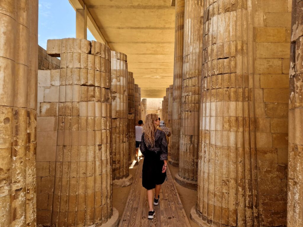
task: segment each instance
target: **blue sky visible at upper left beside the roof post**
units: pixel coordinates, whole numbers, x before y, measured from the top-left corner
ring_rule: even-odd
[[[48,39],[76,37],[76,12],[68,0],[39,0],[38,44]],[[87,30],[87,39],[95,40]]]

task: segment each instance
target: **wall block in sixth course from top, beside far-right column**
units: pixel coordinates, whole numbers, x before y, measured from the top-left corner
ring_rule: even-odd
[[[260,88],[288,88],[288,87],[289,87],[289,76],[287,74],[261,74],[260,75]]]

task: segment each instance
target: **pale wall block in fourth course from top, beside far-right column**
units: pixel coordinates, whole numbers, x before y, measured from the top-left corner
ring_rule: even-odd
[[[257,58],[289,58],[290,43],[257,43]]]

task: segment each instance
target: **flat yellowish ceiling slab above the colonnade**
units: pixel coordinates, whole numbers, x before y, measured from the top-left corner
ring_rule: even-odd
[[[172,84],[175,7],[171,0],[83,0],[112,50],[127,54],[144,98]],[[161,79],[161,81],[160,81]]]

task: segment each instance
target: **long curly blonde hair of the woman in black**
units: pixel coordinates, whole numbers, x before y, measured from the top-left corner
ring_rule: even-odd
[[[157,130],[155,120],[158,118],[158,115],[155,113],[149,113],[146,115],[145,123],[143,125],[143,132],[145,144],[148,147],[155,146],[155,131]]]

